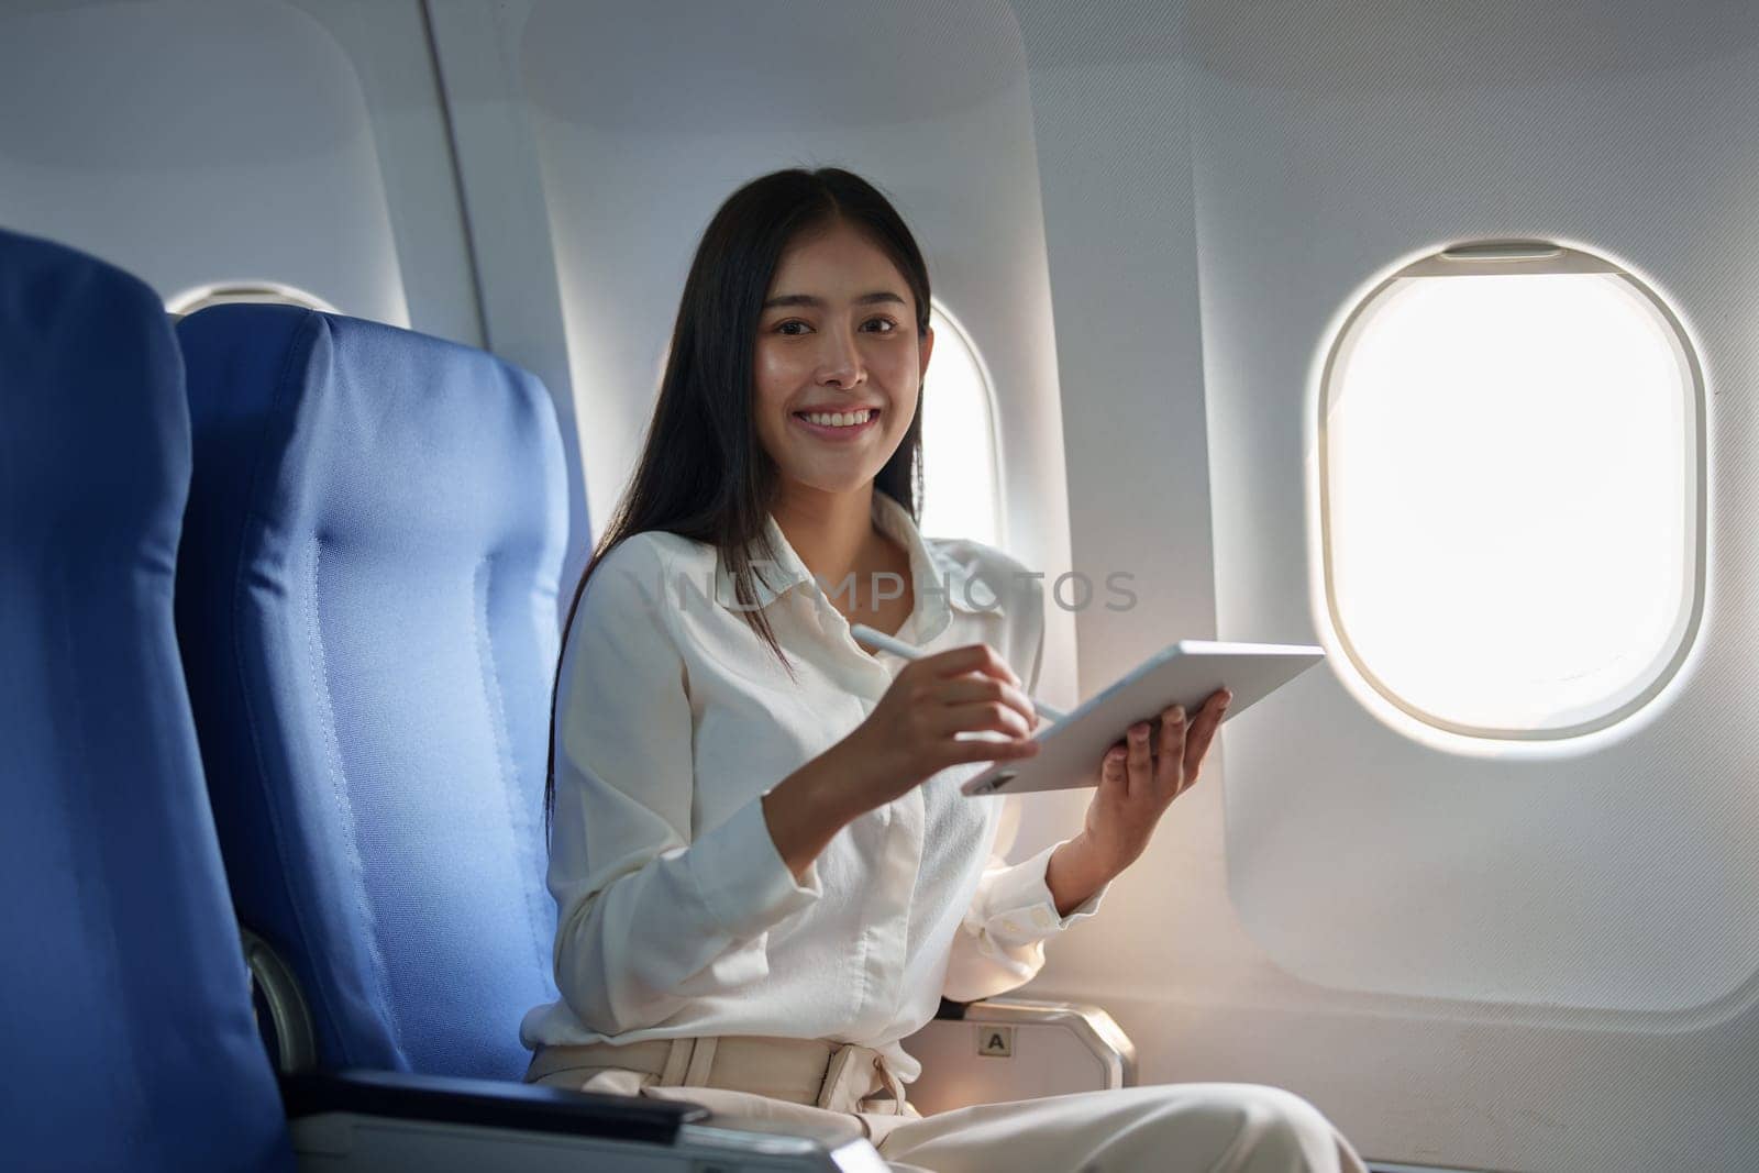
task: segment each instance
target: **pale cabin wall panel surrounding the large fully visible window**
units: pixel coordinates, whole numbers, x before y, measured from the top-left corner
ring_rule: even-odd
[[[1620,735],[1539,758],[1442,753],[1353,700],[1333,647],[1328,670],[1226,728],[1214,769],[1101,916],[1052,946],[1034,990],[1117,1013],[1145,1080],[1291,1087],[1384,1159],[1752,1168],[1759,746],[1738,389],[1755,373],[1759,18],[1513,2],[1112,4],[1108,21],[1013,9],[1057,306],[1096,304],[1089,269],[1129,274],[1145,251],[1179,266],[1159,278],[1166,301],[1110,302],[1085,350],[1061,318],[1062,383],[1108,404],[1080,410],[1154,429],[1191,464],[1203,434],[1173,436],[1171,415],[1200,408],[1159,406],[1168,390],[1140,373],[1173,362],[1159,343],[1201,292],[1212,536],[1187,535],[1180,556],[1215,570],[1214,628],[1177,577],[1152,619],[1084,617],[1084,695],[1168,633],[1319,642],[1312,368],[1353,297],[1423,250],[1537,236],[1634,266],[1697,341],[1710,412],[1710,605],[1685,668]],[[1110,179],[1091,174],[1098,160],[1133,179],[1187,174],[1189,220],[1152,185],[1087,215]],[[1163,239],[1142,241],[1145,209],[1164,216]],[[1071,445],[1069,464],[1077,549],[1128,549],[1150,510],[1101,533],[1084,522],[1142,470],[1099,443]],[[1154,637],[1131,645],[1133,630]],[[1075,825],[1029,809],[1022,844],[1036,818]]]

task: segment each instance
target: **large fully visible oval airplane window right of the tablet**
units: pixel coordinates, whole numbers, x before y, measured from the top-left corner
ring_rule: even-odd
[[[1673,677],[1704,589],[1703,373],[1611,262],[1449,248],[1344,320],[1319,382],[1325,605],[1432,726],[1562,739]]]

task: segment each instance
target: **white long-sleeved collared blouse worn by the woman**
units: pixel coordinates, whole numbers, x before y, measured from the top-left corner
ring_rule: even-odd
[[[909,552],[915,610],[897,638],[989,644],[1036,688],[1041,575],[978,542],[925,540],[880,489],[872,517]],[[909,1082],[922,1066],[899,1039],[943,994],[1024,985],[1045,939],[1105,895],[1059,918],[1045,865],[1061,844],[1013,865],[992,853],[1010,798],[959,793],[987,763],[862,814],[795,881],[760,798],[855,730],[906,661],[862,651],[774,517],[767,535],[776,559],[751,550],[770,584],[755,584],[756,605],[799,684],[735,610],[712,545],[647,531],[593,572],[556,698],[561,1001],[526,1015],[526,1046],[823,1038],[878,1048]]]

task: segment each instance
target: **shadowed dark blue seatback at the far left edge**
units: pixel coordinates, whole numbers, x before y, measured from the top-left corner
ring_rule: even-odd
[[[0,1148],[290,1168],[172,630],[190,480],[165,308],[0,230]]]

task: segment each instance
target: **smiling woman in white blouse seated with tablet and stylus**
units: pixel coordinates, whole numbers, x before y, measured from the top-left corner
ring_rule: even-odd
[[[1043,587],[916,529],[932,348],[922,255],[860,178],[763,176],[704,232],[565,628],[561,1001],[526,1016],[526,1078],[834,1124],[901,1169],[1360,1171],[1310,1104],[1254,1085],[909,1106],[899,1039],[943,994],[1040,969],[1196,779],[1228,702],[1189,728],[1168,710],[1157,746],[1131,728],[1080,835],[990,855],[1001,804],[959,783],[1036,751]],[[869,654],[853,623],[932,654]]]

